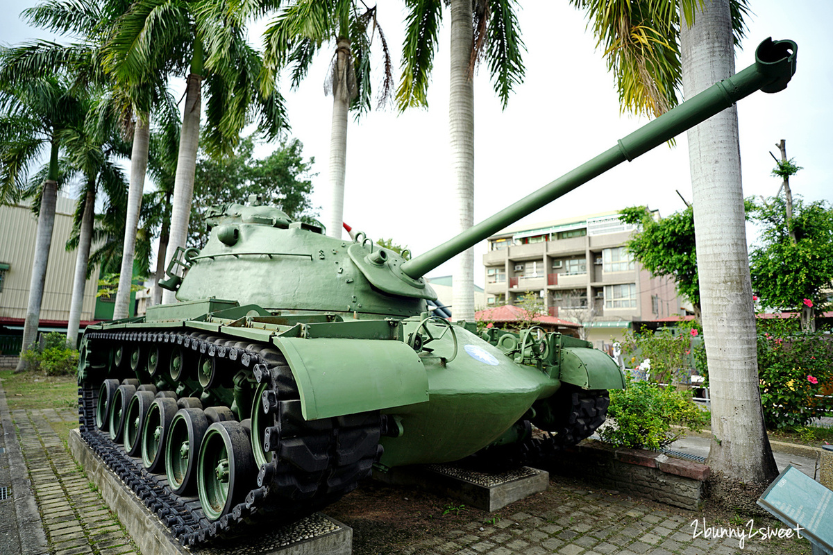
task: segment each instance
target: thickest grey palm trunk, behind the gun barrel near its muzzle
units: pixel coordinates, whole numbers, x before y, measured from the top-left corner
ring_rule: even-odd
[[[688,98],[735,73],[730,0],[707,0],[703,9],[694,26],[684,22],[681,30],[683,90]],[[758,389],[736,108],[688,131],[688,145],[711,383],[709,465],[727,478],[769,483],[778,470]]]

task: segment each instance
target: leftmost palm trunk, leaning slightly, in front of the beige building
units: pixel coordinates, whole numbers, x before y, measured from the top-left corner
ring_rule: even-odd
[[[41,210],[37,216],[37,235],[35,236],[35,257],[32,260],[32,281],[29,284],[29,303],[26,308],[26,320],[23,322],[23,354],[37,341],[37,325],[41,319],[43,287],[47,280],[47,262],[52,246],[52,228],[55,226],[55,203],[57,202],[57,142],[52,142],[49,161],[49,176],[43,182]],[[27,369],[22,359],[17,363],[15,372]]]

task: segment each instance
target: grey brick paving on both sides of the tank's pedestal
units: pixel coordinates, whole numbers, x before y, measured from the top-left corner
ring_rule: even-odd
[[[74,409],[16,410],[0,388],[6,453],[0,482],[11,480],[14,503],[0,501],[0,518],[17,520],[17,534],[0,532],[0,553],[122,555],[137,553],[101,496],[72,459],[52,424],[77,421]],[[12,423],[13,421],[13,423]],[[7,459],[5,456],[7,455]],[[27,470],[27,472],[26,472]],[[12,474],[17,473],[17,478]],[[0,486],[2,486],[0,483]],[[34,503],[36,502],[36,503]],[[514,507],[514,508],[513,508]],[[518,508],[521,508],[519,510]],[[12,508],[13,510],[10,510]],[[407,507],[402,507],[407,510]],[[11,513],[15,513],[13,516]],[[466,513],[463,513],[466,514]],[[697,513],[641,502],[617,493],[586,491],[553,481],[545,493],[510,505],[499,518],[475,516],[457,529],[420,538],[404,555],[733,555],[810,553],[806,540],[694,538]],[[712,526],[713,523],[706,523]],[[735,523],[743,526],[744,523]],[[770,523],[772,526],[779,526]],[[756,526],[765,525],[756,521]],[[7,525],[2,528],[15,528]],[[701,530],[702,532],[702,530]],[[10,534],[8,538],[3,534]],[[382,533],[380,531],[379,533]],[[358,550],[354,539],[354,550]]]

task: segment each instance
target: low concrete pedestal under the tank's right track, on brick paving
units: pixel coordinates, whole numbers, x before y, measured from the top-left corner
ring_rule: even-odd
[[[387,472],[374,470],[373,478],[391,485],[430,489],[490,513],[534,493],[541,493],[550,483],[550,474],[536,468],[481,473],[452,464],[391,468]]]

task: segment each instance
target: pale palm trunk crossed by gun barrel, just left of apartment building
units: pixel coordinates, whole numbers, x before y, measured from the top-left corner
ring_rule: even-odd
[[[451,178],[457,208],[455,233],[474,225],[474,83],[469,72],[474,35],[471,0],[451,1],[451,91],[448,120]],[[474,321],[474,248],[456,255],[452,274],[455,320]]]

